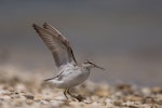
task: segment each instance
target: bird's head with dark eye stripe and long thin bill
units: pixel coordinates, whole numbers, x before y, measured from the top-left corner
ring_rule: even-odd
[[[102,70],[105,70],[103,67],[97,66],[92,59],[85,59],[85,62],[82,65],[83,67],[86,67],[87,69],[99,68]]]

